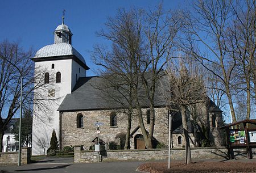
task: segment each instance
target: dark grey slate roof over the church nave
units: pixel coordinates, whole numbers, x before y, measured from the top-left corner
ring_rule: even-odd
[[[84,77],[79,78],[76,86],[71,94],[67,94],[61,103],[58,111],[78,111],[88,109],[118,109],[123,108],[121,104],[111,102],[111,99],[105,99],[102,96],[102,91],[99,90],[99,86],[102,83],[101,77]],[[115,92],[113,90],[113,92]],[[143,92],[143,91],[142,91]],[[141,92],[141,104],[143,107],[148,107],[148,100]],[[155,106],[165,106],[166,103],[160,94],[159,88],[156,88],[155,94]]]

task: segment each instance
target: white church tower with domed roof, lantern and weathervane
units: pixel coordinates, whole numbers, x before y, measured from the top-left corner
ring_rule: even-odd
[[[59,136],[59,108],[70,94],[79,77],[86,77],[84,57],[72,47],[72,32],[67,25],[57,26],[54,44],[36,52],[35,91],[32,124],[32,155],[42,155],[49,147],[53,129]]]

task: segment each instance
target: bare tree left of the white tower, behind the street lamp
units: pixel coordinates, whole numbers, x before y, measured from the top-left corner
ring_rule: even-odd
[[[33,50],[26,52],[20,48],[19,43],[10,43],[7,40],[0,43],[0,150],[2,150],[3,134],[7,125],[20,108],[20,74],[8,61],[17,66],[22,73],[23,108],[30,109],[34,103],[40,109],[47,110],[45,104],[40,104],[47,98],[41,97],[40,100],[34,100],[34,95],[44,94],[34,93],[35,88],[44,85],[44,71],[42,69],[34,71],[34,63],[30,60],[33,55]]]

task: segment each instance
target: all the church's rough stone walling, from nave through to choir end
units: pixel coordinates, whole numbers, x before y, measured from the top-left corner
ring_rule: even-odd
[[[205,104],[201,103],[199,108],[196,108],[198,119],[200,118],[199,125],[200,126],[208,126],[207,128],[210,133],[210,137],[212,137],[212,141],[214,141],[215,146],[223,145],[223,142],[220,142],[221,139],[225,139],[220,132],[218,127],[221,126],[221,112],[217,115],[217,123],[216,127],[212,128],[212,122],[209,121],[209,115],[213,115],[214,113],[209,113]],[[144,116],[144,125],[146,130],[149,130],[149,125],[146,122],[146,112],[148,108],[143,108],[142,113]],[[117,113],[117,126],[110,126],[110,113]],[[83,145],[85,150],[88,150],[91,145],[94,145],[92,141],[94,138],[98,136],[96,126],[94,123],[100,122],[104,123],[104,125],[100,126],[100,138],[106,143],[109,142],[117,142],[118,134],[126,133],[127,129],[127,116],[126,113],[123,113],[123,110],[90,110],[90,111],[76,111],[76,112],[63,112],[60,114],[60,129],[61,134],[59,137],[59,144],[61,149],[65,146],[74,146],[74,145]],[[77,128],[77,115],[81,113],[83,116],[83,127]],[[206,116],[207,115],[207,116]],[[175,123],[175,121],[173,122]],[[130,138],[130,146],[131,149],[136,149],[135,147],[135,136],[137,134],[142,134],[141,129],[137,129],[138,117],[136,116],[136,112],[133,113],[132,121],[131,121],[131,133],[133,135]],[[194,134],[190,133],[190,142],[191,146],[195,147],[195,137]],[[181,136],[182,142],[181,144],[177,144],[177,137]],[[173,137],[173,146],[174,147],[183,147],[185,146],[185,138],[183,134],[172,134]],[[162,144],[168,145],[168,111],[166,108],[155,108],[155,126],[154,126],[154,138],[161,142]],[[198,140],[197,140],[198,141]]]

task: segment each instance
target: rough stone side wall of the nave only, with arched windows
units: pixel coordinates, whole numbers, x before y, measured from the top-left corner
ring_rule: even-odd
[[[110,113],[114,111],[117,113],[117,126],[110,126]],[[143,115],[146,117],[147,109],[142,109]],[[83,127],[77,128],[76,117],[77,114],[83,115]],[[63,112],[61,115],[61,146],[83,145],[85,149],[89,149],[92,145],[92,140],[98,136],[96,126],[94,123],[100,122],[104,125],[100,126],[100,138],[104,142],[111,142],[116,140],[119,133],[126,133],[127,120],[125,113],[117,112],[117,110],[101,110],[101,111],[77,111],[77,112]],[[131,123],[131,132],[137,128],[138,118],[133,117]],[[148,130],[149,125],[144,119],[145,127]],[[140,129],[136,134],[142,134]],[[155,128],[154,137],[156,140],[167,145],[168,139],[168,111],[166,108],[155,108]],[[131,146],[134,148],[134,138],[131,138]]]

